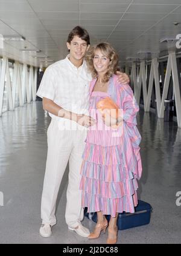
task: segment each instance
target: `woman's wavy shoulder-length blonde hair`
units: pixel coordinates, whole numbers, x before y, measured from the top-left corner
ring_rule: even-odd
[[[92,77],[97,77],[97,71],[94,68],[93,59],[95,55],[95,51],[100,50],[108,59],[110,59],[108,70],[104,76],[103,82],[107,82],[116,71],[119,70],[118,67],[118,54],[114,50],[114,48],[108,44],[107,42],[101,42],[100,44],[93,45],[89,48],[86,54],[86,63],[87,67],[92,74]]]

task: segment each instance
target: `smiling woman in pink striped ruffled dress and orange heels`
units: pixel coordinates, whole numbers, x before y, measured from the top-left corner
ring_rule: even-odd
[[[118,56],[109,44],[92,47],[86,60],[95,77],[90,82],[89,112],[97,122],[87,133],[83,153],[82,207],[97,212],[98,217],[88,238],[98,238],[101,231],[105,232],[108,226],[105,215],[111,215],[107,243],[116,243],[118,212],[134,212],[138,204],[136,179],[140,179],[142,172],[141,136],[136,128],[139,107],[129,85],[116,80]],[[108,118],[109,115],[106,117],[97,109],[100,100],[106,97],[118,105],[119,117]]]

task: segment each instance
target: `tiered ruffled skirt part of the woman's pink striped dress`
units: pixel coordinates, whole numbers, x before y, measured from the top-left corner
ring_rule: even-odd
[[[135,212],[138,183],[129,169],[121,145],[101,146],[86,143],[81,165],[82,207],[87,212]]]

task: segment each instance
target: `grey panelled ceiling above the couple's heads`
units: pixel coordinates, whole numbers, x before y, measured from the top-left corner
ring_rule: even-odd
[[[167,49],[160,38],[181,33],[181,24],[173,25],[181,22],[180,15],[181,0],[0,0],[0,20],[5,23],[0,21],[0,34],[26,38],[24,43],[6,44],[0,53],[28,64],[39,65],[33,57],[39,54],[57,61],[68,54],[69,31],[80,24],[89,32],[91,44],[107,40],[125,59],[145,48]],[[19,48],[24,44],[42,52],[22,54]]]

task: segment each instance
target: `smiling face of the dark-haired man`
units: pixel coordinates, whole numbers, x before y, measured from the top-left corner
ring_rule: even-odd
[[[83,59],[90,45],[87,45],[87,42],[78,36],[74,36],[71,41],[71,44],[66,43],[68,49],[70,50],[70,57],[74,58],[77,61]]]

